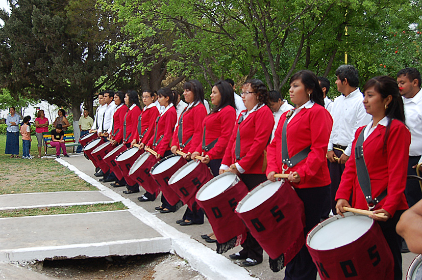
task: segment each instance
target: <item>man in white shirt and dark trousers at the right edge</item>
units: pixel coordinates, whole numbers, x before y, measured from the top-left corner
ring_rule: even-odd
[[[415,68],[405,68],[397,73],[397,83],[403,98],[406,125],[410,130],[409,162],[407,174],[416,175],[415,165],[422,154],[422,90],[420,73]],[[404,163],[405,164],[405,163]],[[409,207],[422,199],[418,180],[407,180],[405,195]]]

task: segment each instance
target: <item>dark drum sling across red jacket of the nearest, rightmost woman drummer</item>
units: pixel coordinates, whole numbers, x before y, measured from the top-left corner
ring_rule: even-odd
[[[365,126],[366,127],[366,126]],[[363,131],[359,134],[359,137],[356,141],[355,146],[355,163],[356,163],[356,174],[358,176],[358,181],[360,188],[362,189],[363,195],[365,195],[366,203],[368,204],[368,209],[374,209],[375,206],[382,201],[387,196],[387,189],[381,192],[380,195],[376,198],[372,198],[370,179],[368,169],[366,168],[365,158],[363,157]]]

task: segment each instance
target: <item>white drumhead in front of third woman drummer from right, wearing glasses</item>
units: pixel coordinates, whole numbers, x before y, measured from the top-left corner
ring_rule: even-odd
[[[233,173],[225,173],[218,175],[211,181],[205,184],[198,191],[198,193],[196,194],[197,200],[206,201],[215,198],[218,194],[231,187],[233,183],[236,184],[238,182],[237,175]]]

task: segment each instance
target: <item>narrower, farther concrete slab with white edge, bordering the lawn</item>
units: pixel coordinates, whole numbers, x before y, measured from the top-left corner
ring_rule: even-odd
[[[0,210],[113,202],[98,190],[15,193],[0,195]]]

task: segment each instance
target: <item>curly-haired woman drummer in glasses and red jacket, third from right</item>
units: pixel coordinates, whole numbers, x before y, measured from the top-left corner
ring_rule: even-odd
[[[264,150],[271,137],[274,117],[268,106],[267,87],[261,80],[247,80],[241,96],[246,110],[242,111],[235,123],[219,173],[229,170],[239,175],[251,190],[266,179]],[[244,266],[262,262],[262,248],[249,232],[242,247],[239,253],[230,255],[230,258],[244,259]]]

